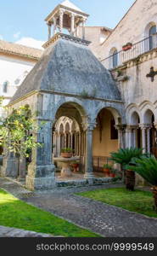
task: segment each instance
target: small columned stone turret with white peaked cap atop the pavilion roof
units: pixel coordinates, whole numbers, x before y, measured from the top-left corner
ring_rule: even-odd
[[[64,30],[67,30],[71,37],[78,38],[78,26],[82,26],[82,39],[84,40],[85,24],[88,16],[68,0],[60,3],[45,19],[48,24],[48,40],[56,33],[64,33]]]

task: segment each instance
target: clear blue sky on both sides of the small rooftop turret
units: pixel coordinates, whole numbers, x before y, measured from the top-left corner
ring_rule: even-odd
[[[62,0],[1,1],[0,38],[16,42],[21,38],[46,41],[44,19]],[[88,26],[114,28],[135,0],[71,0],[90,15]]]

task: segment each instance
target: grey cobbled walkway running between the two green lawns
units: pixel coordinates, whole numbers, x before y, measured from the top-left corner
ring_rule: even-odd
[[[8,186],[6,181],[0,179],[0,187],[7,189],[16,196],[18,185]],[[121,184],[105,184],[86,188],[55,189],[36,192],[20,198],[24,201],[52,212],[59,217],[70,220],[88,230],[92,230],[106,237],[157,237],[157,219],[147,218],[141,214],[128,212],[118,207],[93,201],[74,195],[75,192],[117,187]],[[14,188],[14,189],[13,189]]]

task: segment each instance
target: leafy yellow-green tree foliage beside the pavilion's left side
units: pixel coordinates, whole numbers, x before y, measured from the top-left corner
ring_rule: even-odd
[[[28,157],[32,148],[41,147],[34,136],[38,129],[28,105],[14,109],[6,118],[1,118],[0,145],[4,148],[3,154],[9,151]]]

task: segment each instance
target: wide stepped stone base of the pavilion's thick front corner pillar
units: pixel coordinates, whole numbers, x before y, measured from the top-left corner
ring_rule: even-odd
[[[28,175],[26,176],[26,188],[35,189],[53,189],[55,187],[54,177],[55,166],[34,166],[29,165]]]

